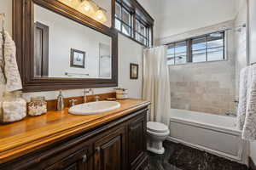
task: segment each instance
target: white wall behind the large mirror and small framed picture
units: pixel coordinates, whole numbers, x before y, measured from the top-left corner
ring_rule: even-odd
[[[147,4],[147,2],[144,2]],[[99,3],[101,5],[101,3]],[[12,30],[12,1],[10,0],[0,0],[0,12],[7,13],[7,30],[11,32]],[[150,12],[149,12],[150,13]],[[137,42],[133,42],[130,39],[119,35],[119,87],[123,88],[128,87],[126,84],[131,84],[133,88],[130,88],[130,96],[141,98],[141,88],[142,88],[142,80],[141,76],[138,80],[130,80],[130,62],[141,63],[142,56],[142,46]],[[124,58],[124,59],[123,59]],[[127,59],[126,59],[127,58]],[[129,65],[129,66],[127,66]],[[142,65],[140,65],[142,69]],[[140,74],[142,71],[140,70]],[[0,87],[3,90],[3,87]],[[103,94],[112,92],[113,88],[96,88],[96,94]],[[63,92],[65,97],[74,97],[83,95],[82,89],[74,89],[74,90],[65,90]],[[46,99],[56,99],[58,92],[38,92],[38,93],[26,93],[23,96],[29,100],[32,96],[45,96]],[[0,94],[0,96],[2,96]]]

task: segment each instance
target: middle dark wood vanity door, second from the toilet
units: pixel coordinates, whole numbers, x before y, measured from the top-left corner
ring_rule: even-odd
[[[125,127],[95,143],[95,170],[125,170]]]

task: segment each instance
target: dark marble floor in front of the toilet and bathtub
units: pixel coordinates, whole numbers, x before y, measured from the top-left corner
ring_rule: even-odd
[[[183,144],[164,143],[164,155],[148,152],[149,170],[247,170],[235,161],[214,156]]]

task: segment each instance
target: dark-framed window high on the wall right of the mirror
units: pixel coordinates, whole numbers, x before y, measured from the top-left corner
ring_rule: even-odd
[[[129,6],[122,0],[116,1],[115,28],[126,37],[131,37],[136,42],[149,47],[152,45],[154,20],[139,3],[133,2],[131,4],[133,5]]]

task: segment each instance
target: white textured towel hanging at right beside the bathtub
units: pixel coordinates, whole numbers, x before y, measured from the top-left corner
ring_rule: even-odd
[[[247,110],[241,138],[256,140],[256,65],[248,68]]]

